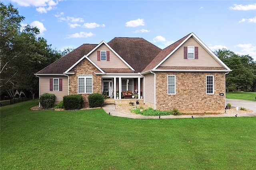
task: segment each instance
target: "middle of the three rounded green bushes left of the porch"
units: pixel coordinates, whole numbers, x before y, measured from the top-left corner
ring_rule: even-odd
[[[72,94],[63,97],[63,107],[66,110],[82,109],[83,98],[80,94]]]

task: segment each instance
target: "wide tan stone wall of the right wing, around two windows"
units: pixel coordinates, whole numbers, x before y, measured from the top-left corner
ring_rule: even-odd
[[[167,93],[167,76],[176,75],[176,94]],[[206,94],[206,75],[214,76],[214,95]],[[224,113],[224,72],[156,72],[156,109]]]

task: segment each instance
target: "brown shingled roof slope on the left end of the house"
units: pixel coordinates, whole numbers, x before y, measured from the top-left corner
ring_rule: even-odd
[[[63,72],[68,70],[68,68],[76,63],[81,57],[92,51],[92,49],[94,49],[96,46],[97,44],[83,44],[74,49],[74,51],[43,68],[36,74],[63,74]]]

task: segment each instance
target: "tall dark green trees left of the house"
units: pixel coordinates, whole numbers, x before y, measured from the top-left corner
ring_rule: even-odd
[[[13,98],[16,90],[32,92],[39,89],[34,75],[73,49],[52,49],[46,39],[39,36],[37,27],[21,27],[24,16],[12,4],[0,2],[0,92]]]

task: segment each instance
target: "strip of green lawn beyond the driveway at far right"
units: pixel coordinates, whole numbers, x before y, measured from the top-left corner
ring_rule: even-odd
[[[256,97],[256,92],[228,92],[228,93],[226,93],[227,99],[256,101],[255,97]]]

